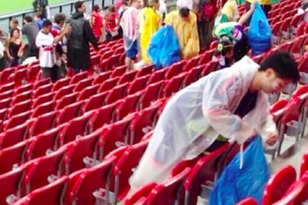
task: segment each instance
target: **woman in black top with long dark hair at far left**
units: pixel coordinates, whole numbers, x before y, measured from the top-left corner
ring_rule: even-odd
[[[21,63],[22,40],[20,30],[17,28],[11,30],[9,42],[8,59],[11,62],[11,67],[15,67]]]

